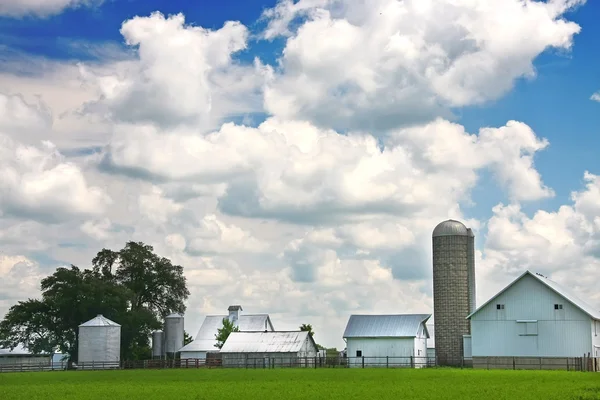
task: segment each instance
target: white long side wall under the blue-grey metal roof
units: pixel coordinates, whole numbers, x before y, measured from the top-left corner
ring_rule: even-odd
[[[351,367],[362,366],[362,359],[356,352],[362,351],[366,365],[390,366],[406,365],[415,354],[414,338],[348,338],[348,363]],[[425,348],[425,351],[427,349]],[[390,357],[390,359],[387,359]],[[397,357],[397,358],[395,358]],[[395,359],[394,359],[395,358]]]

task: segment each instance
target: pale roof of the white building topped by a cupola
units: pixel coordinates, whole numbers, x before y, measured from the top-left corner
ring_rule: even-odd
[[[183,346],[179,351],[219,351],[215,347],[215,344],[217,344],[215,335],[223,326],[223,318],[227,317],[227,315],[207,315],[194,341]],[[273,330],[269,314],[240,315],[236,326],[242,332],[262,332],[265,327]]]

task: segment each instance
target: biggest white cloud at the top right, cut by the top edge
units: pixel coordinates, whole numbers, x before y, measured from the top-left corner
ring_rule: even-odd
[[[544,50],[568,50],[580,27],[563,14],[584,2],[282,0],[265,13],[265,36],[287,36],[265,105],[375,131],[447,115],[535,76]]]

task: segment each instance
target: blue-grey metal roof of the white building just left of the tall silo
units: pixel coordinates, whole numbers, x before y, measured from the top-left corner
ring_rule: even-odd
[[[431,314],[351,315],[343,337],[416,337],[429,318]],[[429,337],[427,326],[425,331]]]

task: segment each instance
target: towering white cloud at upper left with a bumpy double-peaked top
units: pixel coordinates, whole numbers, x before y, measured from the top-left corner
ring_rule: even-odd
[[[84,112],[113,121],[162,126],[214,126],[221,118],[260,107],[262,72],[235,62],[246,49],[248,29],[226,22],[218,30],[185,25],[183,14],[134,17],[121,28],[139,58],[116,73],[82,66],[82,77],[99,99]]]

